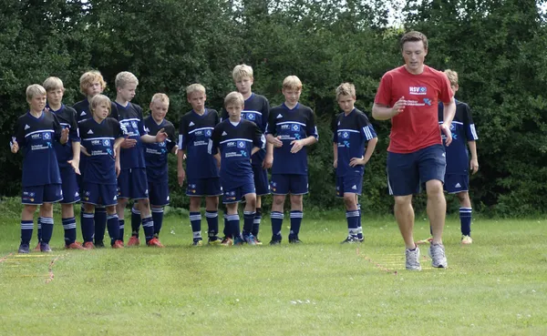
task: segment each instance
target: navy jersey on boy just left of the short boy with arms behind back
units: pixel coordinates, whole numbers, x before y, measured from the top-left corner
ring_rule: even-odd
[[[218,112],[209,108],[205,108],[201,116],[191,110],[181,117],[179,149],[186,151],[188,178],[219,177],[219,169],[209,150],[212,146],[212,131],[218,123]]]

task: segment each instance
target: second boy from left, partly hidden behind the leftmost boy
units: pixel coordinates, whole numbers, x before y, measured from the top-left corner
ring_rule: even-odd
[[[62,180],[63,200],[60,203],[63,229],[65,229],[65,247],[67,249],[84,249],[76,241],[76,218],[74,217],[74,204],[80,200],[76,178],[80,174],[80,138],[76,110],[62,103],[65,87],[63,87],[61,79],[48,77],[44,81],[44,88],[47,92],[46,108],[56,115],[61,127],[68,128],[67,144],[54,143],[53,145]]]

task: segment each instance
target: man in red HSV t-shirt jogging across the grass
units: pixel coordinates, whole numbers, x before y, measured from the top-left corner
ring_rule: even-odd
[[[446,144],[452,141],[450,123],[456,112],[449,78],[424,64],[428,38],[409,32],[400,40],[405,65],[388,71],[380,81],[372,116],[391,119],[387,148],[387,183],[395,197],[395,218],[405,240],[407,270],[421,270],[419,249],[414,243],[412,195],[425,185],[428,193],[428,217],[433,230],[429,247],[431,264],[448,266],[442,245],[442,229],[447,208],[443,194],[446,156],[440,131]],[[439,126],[437,106],[444,104],[444,123]],[[439,131],[440,127],[440,131]]]

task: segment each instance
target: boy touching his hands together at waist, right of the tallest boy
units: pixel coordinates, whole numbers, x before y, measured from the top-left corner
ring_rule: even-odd
[[[301,243],[298,238],[303,218],[302,198],[308,192],[308,169],[306,146],[319,139],[315,127],[314,111],[300,104],[302,82],[297,76],[287,76],[283,81],[284,104],[270,110],[266,129],[268,142],[274,145],[271,190],[272,204],[271,245],[281,243],[281,228],[284,219],[284,199],[291,196],[290,243]]]

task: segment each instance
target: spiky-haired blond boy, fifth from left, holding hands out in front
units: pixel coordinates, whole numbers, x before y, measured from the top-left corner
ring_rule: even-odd
[[[124,210],[129,199],[135,199],[138,203],[139,217],[131,223],[131,239],[129,246],[139,245],[139,224],[142,222],[142,228],[148,246],[162,248],[160,239],[154,237],[154,221],[150,213],[150,200],[148,179],[146,176],[146,166],[144,162],[144,150],[142,142],[161,143],[168,137],[164,129],[161,128],[155,137],[149,136],[144,129],[142,120],[142,108],[131,103],[135,97],[135,91],[139,85],[137,77],[130,72],[123,71],[116,76],[116,107],[118,108],[119,127],[124,129],[124,133],[131,141],[132,147],[123,147],[119,152],[119,162],[121,171],[118,177],[118,216],[119,216],[119,235],[123,240],[124,233]]]

